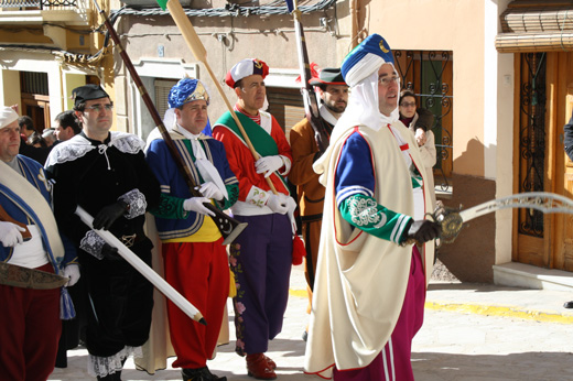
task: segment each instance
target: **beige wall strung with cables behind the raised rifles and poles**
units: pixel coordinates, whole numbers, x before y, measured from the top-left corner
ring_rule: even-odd
[[[340,6],[344,13],[346,6]],[[342,62],[349,46],[349,35],[344,24],[335,28],[331,21],[328,28],[320,23],[320,18],[334,20],[334,10],[303,15],[303,25],[310,61],[321,67],[336,66]],[[338,14],[340,17],[340,14]],[[121,18],[120,35],[131,61],[141,59],[181,59],[182,64],[198,64],[198,78],[206,83],[212,92],[209,117],[217,119],[226,107],[217,92],[205,66],[197,62],[188,50],[179,29],[171,17],[156,17],[153,26],[149,19],[142,17]],[[299,68],[294,23],[291,15],[238,17],[238,18],[191,18],[199,39],[207,52],[207,63],[217,80],[223,84],[225,95],[235,104],[235,94],[224,83],[226,73],[242,58],[260,58],[273,72]],[[334,32],[336,31],[336,32]],[[331,33],[333,32],[333,33]],[[346,33],[346,34],[345,34]],[[158,50],[164,50],[160,57]],[[156,74],[156,77],[171,77],[169,74]],[[292,81],[294,85],[294,77]]]

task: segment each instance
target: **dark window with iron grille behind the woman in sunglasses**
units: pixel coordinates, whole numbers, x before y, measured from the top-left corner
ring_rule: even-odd
[[[434,115],[432,132],[435,137],[437,161],[434,165],[436,185],[448,189],[447,178],[452,175],[452,104],[453,59],[448,51],[399,51],[394,50],[396,68],[401,88],[412,90],[419,107]]]

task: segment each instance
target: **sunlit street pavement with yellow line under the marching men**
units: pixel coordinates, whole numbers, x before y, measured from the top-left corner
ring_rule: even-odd
[[[295,266],[283,330],[267,353],[278,364],[279,380],[321,380],[303,373],[305,295],[303,269]],[[569,300],[573,292],[432,282],[424,325],[412,348],[417,381],[573,380],[573,311],[563,308]],[[246,373],[245,359],[234,352],[230,301],[228,306],[231,341],[219,347],[208,367],[229,381],[253,380]],[[48,380],[93,380],[85,348],[67,353],[68,367],[56,368]],[[129,359],[122,380],[174,381],[181,375],[172,368],[148,374]]]

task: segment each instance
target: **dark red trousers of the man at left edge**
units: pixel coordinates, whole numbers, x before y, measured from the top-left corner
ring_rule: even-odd
[[[54,272],[50,263],[37,270]],[[62,333],[60,289],[0,285],[0,379],[45,381]]]

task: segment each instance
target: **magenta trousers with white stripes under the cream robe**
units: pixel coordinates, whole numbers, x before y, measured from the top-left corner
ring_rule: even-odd
[[[412,339],[422,327],[424,303],[424,268],[420,252],[414,246],[404,303],[390,339],[367,367],[349,370],[334,368],[333,379],[335,381],[413,381],[414,374],[410,362]]]

